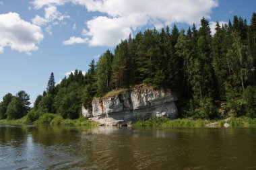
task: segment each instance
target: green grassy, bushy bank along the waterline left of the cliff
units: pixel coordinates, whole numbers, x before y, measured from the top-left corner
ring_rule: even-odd
[[[0,124],[49,124],[49,125],[63,125],[63,126],[98,126],[97,122],[92,122],[86,118],[79,118],[76,120],[63,119],[56,114],[43,114],[34,122],[30,122],[27,116],[17,120],[0,120]]]

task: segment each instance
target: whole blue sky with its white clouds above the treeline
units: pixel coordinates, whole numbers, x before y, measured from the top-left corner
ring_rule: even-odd
[[[59,82],[146,28],[250,22],[255,0],[0,0],[0,101],[25,90],[33,103],[51,72]]]

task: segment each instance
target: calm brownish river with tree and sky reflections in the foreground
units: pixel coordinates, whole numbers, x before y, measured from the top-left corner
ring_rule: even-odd
[[[0,126],[0,169],[256,169],[256,128]]]

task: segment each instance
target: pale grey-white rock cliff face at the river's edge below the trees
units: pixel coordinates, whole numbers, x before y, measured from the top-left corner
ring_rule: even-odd
[[[177,96],[170,89],[154,90],[141,85],[110,97],[96,98],[90,108],[82,108],[82,114],[106,125],[129,124],[154,117],[176,118],[175,101]]]

